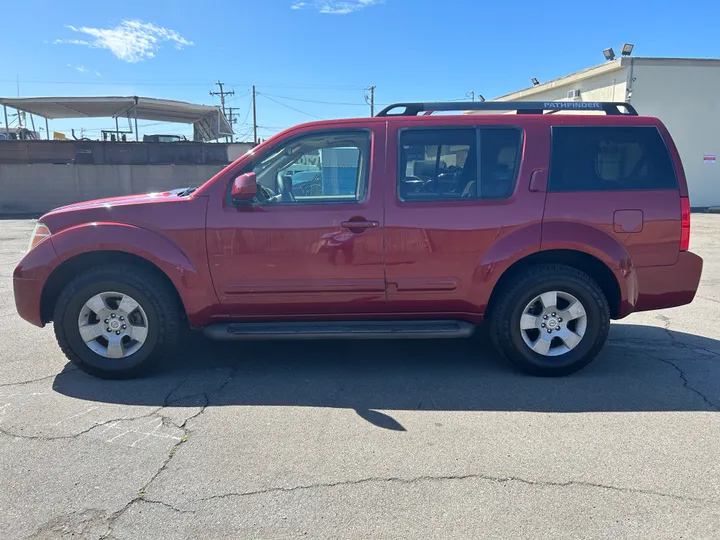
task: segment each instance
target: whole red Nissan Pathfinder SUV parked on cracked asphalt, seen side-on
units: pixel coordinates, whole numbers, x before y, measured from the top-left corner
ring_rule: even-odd
[[[450,110],[487,114],[431,114]],[[689,235],[677,149],[628,104],[405,103],[288,129],[199,188],[53,210],[15,301],[100,377],[146,370],[187,327],[451,338],[485,319],[516,365],[566,375],[610,319],[692,301]]]

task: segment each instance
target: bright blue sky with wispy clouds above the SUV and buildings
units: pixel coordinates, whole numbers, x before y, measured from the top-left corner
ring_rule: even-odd
[[[228,105],[239,108],[244,139],[252,84],[266,138],[314,118],[369,114],[369,85],[379,104],[469,91],[489,99],[601,63],[604,48],[626,41],[636,56],[720,57],[720,3],[709,0],[25,0],[0,13],[0,95],[15,96],[19,78],[22,96],[216,104],[208,93],[219,79],[235,91]],[[56,120],[50,129],[113,126]]]

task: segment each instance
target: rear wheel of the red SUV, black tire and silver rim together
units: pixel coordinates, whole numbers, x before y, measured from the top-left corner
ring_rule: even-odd
[[[553,291],[557,293],[558,309],[546,313],[542,299],[530,304],[544,293],[549,293],[546,298],[551,300]],[[561,264],[534,266],[517,275],[516,279],[499,293],[490,317],[490,337],[505,358],[528,373],[542,377],[560,377],[575,373],[593,361],[607,340],[610,330],[607,298],[590,276],[575,268]],[[564,311],[565,308],[570,309],[573,300],[580,302],[584,319],[583,316],[573,319],[580,312],[580,308],[573,308],[572,312]],[[547,303],[551,304],[550,301]],[[553,316],[556,312],[567,313],[566,318],[574,322],[556,318]],[[527,319],[523,319],[524,314]],[[532,324],[532,318],[537,321],[537,331],[534,328],[521,330],[521,320],[527,327]],[[551,330],[547,325],[551,325],[555,330]],[[575,336],[568,335],[570,333]],[[580,333],[581,339],[576,342]],[[563,338],[555,337],[560,335],[563,335],[567,342]],[[535,349],[531,348],[533,343],[538,344],[534,336],[538,336],[538,340],[549,340],[550,349],[544,354],[535,352]],[[544,344],[539,345],[537,350],[542,352]],[[552,354],[557,356],[551,356]]]

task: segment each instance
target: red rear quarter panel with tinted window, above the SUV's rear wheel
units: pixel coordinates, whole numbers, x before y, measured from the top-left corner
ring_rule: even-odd
[[[591,117],[587,117],[590,119]],[[568,222],[601,229],[620,242],[635,266],[678,259],[681,209],[668,148],[650,118],[608,125],[552,127],[552,157],[543,243]]]

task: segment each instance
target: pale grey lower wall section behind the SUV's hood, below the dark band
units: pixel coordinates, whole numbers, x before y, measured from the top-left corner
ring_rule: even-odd
[[[199,186],[223,168],[0,164],[0,215],[43,214],[58,206],[92,199]]]

